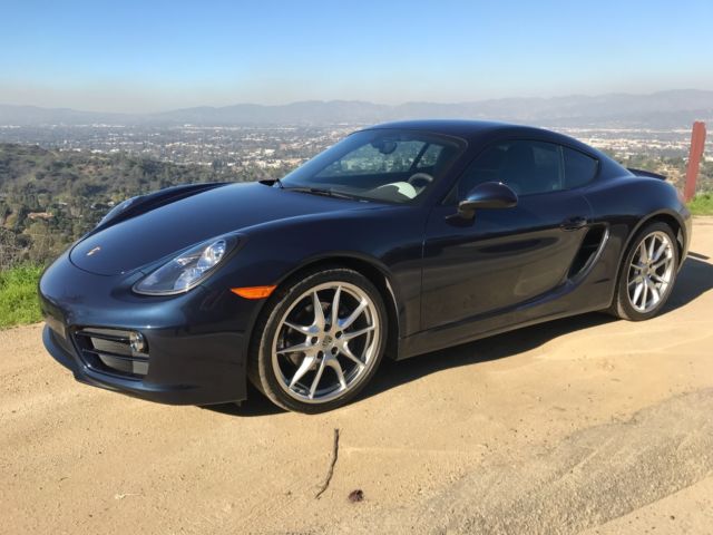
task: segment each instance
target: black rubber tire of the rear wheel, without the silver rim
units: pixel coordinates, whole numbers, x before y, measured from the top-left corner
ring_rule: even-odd
[[[658,303],[653,307],[651,310],[639,311],[632,304],[632,298],[628,293],[628,284],[629,284],[629,270],[632,266],[632,262],[634,260],[634,255],[638,254],[637,250],[642,242],[645,239],[648,239],[654,233],[664,233],[668,236],[672,244],[672,256],[673,256],[673,265],[672,265],[672,274],[671,280],[666,285],[665,291],[661,294]],[[671,292],[673,291],[673,286],[676,282],[676,276],[678,273],[678,246],[676,242],[676,236],[673,233],[671,226],[663,222],[653,222],[644,225],[634,236],[632,243],[624,255],[622,261],[622,265],[619,265],[616,290],[614,293],[614,300],[612,302],[612,307],[608,312],[617,318],[628,321],[644,321],[656,315],[661,309],[666,304],[668,298],[671,296]]]

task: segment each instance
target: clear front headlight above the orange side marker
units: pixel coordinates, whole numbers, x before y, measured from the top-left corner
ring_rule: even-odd
[[[204,281],[225,259],[235,240],[221,237],[204,242],[158,268],[134,285],[146,295],[172,295],[187,292]]]

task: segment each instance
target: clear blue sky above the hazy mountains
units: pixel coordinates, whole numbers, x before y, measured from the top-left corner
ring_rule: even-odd
[[[713,89],[713,0],[0,0],[0,104],[148,113]]]

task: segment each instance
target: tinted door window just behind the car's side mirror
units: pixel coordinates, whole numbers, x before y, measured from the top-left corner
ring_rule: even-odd
[[[484,182],[501,182],[518,195],[563,189],[560,147],[534,140],[514,140],[491,146],[461,176],[456,186],[457,198],[465,198]]]

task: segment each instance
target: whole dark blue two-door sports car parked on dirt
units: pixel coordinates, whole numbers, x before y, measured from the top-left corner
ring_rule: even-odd
[[[167,403],[319,412],[404,359],[555,318],[646,320],[691,217],[662,176],[480,121],[356,132],[281,181],[135,197],[43,274],[49,352]]]

